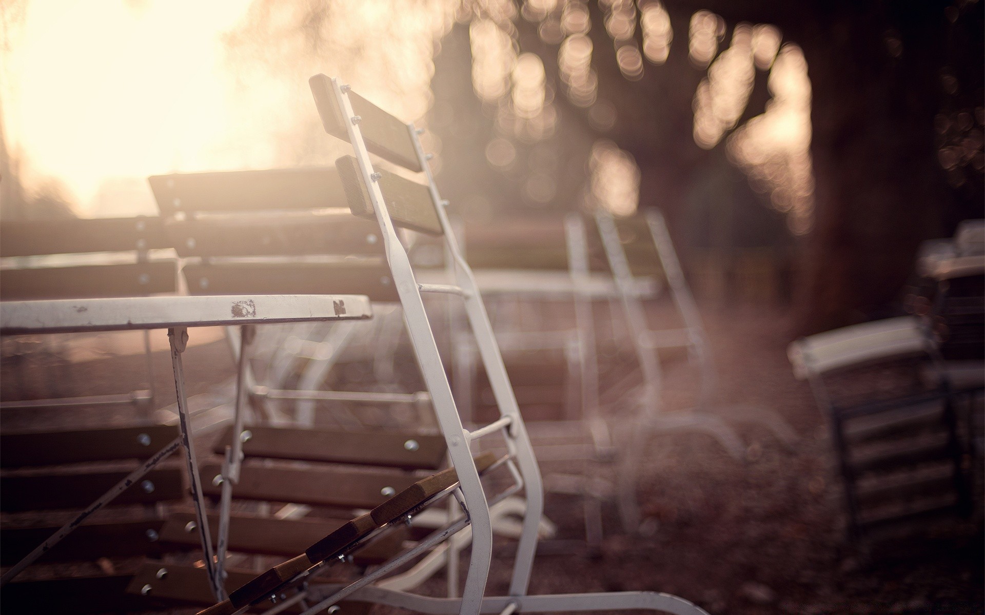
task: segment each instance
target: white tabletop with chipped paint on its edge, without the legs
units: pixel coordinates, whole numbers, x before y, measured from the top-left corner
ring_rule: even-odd
[[[0,334],[82,333],[368,319],[365,295],[216,295],[0,303]]]

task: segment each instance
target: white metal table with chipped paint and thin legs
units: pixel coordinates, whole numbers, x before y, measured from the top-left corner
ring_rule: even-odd
[[[214,557],[209,523],[202,501],[201,477],[191,438],[188,401],[184,391],[181,353],[188,341],[188,328],[361,320],[370,318],[371,314],[369,298],[364,295],[157,296],[5,301],[0,305],[0,335],[4,336],[166,329],[171,347],[171,367],[177,394],[180,435],[177,440],[142,463],[75,519],[63,525],[50,538],[38,545],[27,557],[7,571],[0,584],[7,584],[41,554],[68,535],[82,520],[102,508],[181,446],[185,451],[195,515],[205,552],[206,570],[214,590],[221,593],[223,591],[222,559],[217,560]],[[239,357],[241,375],[244,349],[240,350]],[[237,431],[233,433],[238,433],[242,429],[241,389],[240,382],[237,386],[234,419]],[[240,445],[239,438],[233,438],[232,451],[228,455],[229,460],[233,460],[236,470]],[[223,533],[220,529],[220,553],[225,546]]]

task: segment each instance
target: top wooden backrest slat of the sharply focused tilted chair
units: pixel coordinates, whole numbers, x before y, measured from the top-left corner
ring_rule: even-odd
[[[332,91],[332,80],[325,75],[315,75],[308,80],[314,103],[321,116],[325,132],[343,141],[349,141],[349,131]],[[361,118],[360,130],[366,150],[412,171],[422,171],[421,161],[414,148],[411,126],[401,122],[356,92],[349,92],[353,112]]]

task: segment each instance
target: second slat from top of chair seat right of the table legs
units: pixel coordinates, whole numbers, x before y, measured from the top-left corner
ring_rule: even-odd
[[[212,479],[220,473],[218,463],[202,466],[202,489],[219,497]],[[247,500],[293,502],[313,506],[371,509],[386,500],[385,487],[406,489],[416,477],[397,471],[353,471],[337,467],[265,467],[245,464],[232,496]]]

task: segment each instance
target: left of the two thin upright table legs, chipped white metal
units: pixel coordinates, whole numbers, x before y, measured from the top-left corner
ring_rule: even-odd
[[[209,532],[209,520],[205,513],[204,495],[202,494],[202,479],[198,473],[198,461],[195,459],[195,445],[191,436],[191,417],[188,412],[188,398],[184,390],[184,368],[181,364],[181,353],[188,344],[188,330],[184,327],[173,327],[167,330],[167,339],[171,346],[171,368],[174,372],[174,391],[178,402],[178,427],[181,432],[181,444],[185,450],[185,462],[188,467],[188,479],[191,483],[191,497],[195,503],[195,520],[198,525],[199,537],[202,540],[205,570],[209,574],[209,583],[217,600],[226,599],[226,588],[216,570],[216,560],[212,550],[212,536]]]

